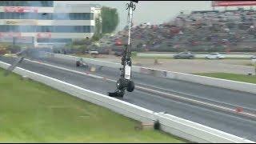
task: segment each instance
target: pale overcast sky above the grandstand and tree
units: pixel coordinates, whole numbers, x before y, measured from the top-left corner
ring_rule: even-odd
[[[129,1],[58,1],[58,3],[91,3],[117,8],[120,18],[117,30],[122,30],[126,26],[127,2]],[[191,10],[212,10],[211,1],[138,1],[135,5],[136,10],[134,10],[133,18],[135,25],[142,22],[150,22],[151,24],[169,22],[182,10],[186,13]]]

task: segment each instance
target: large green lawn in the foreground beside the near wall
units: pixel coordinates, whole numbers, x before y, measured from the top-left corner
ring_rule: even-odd
[[[0,69],[0,142],[187,142]]]

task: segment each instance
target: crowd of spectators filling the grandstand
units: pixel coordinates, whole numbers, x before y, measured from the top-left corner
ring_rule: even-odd
[[[131,32],[134,50],[256,51],[256,10],[208,10],[178,14],[160,25],[143,23]],[[127,42],[127,28],[110,37]]]

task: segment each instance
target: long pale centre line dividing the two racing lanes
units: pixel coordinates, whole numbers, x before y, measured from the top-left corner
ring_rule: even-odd
[[[88,73],[84,74],[84,73],[79,72],[77,70],[70,70],[70,69],[66,69],[66,68],[60,67],[60,66],[53,66],[53,65],[50,65],[50,64],[46,64],[44,62],[32,61],[32,60],[29,60],[29,59],[26,59],[26,58],[25,58],[25,60],[29,61],[29,62],[35,62],[35,63],[41,64],[41,65],[45,65],[45,66],[55,67],[55,68],[58,68],[58,69],[61,69],[61,70],[67,70],[67,71],[70,71],[70,72],[73,72],[73,73],[77,73],[77,74],[83,74],[83,75],[86,75],[86,76],[90,76],[92,78],[100,78],[100,79],[106,79],[106,80],[108,80],[110,82],[116,82],[115,80],[112,80],[112,79],[109,79],[109,78],[103,78],[101,76],[94,75],[94,74],[88,74]],[[193,102],[193,103],[196,103],[196,104],[201,104],[203,106],[210,106],[210,107],[217,108],[219,110],[226,110],[226,111],[230,111],[230,112],[235,113],[235,114],[242,114],[242,115],[245,115],[245,116],[250,116],[250,117],[256,118],[256,114],[250,114],[250,113],[246,113],[246,112],[239,112],[239,113],[237,113],[236,110],[227,108],[225,106],[218,106],[218,105],[210,104],[208,102],[200,102],[198,100],[194,100],[194,99],[190,99],[190,98],[183,98],[183,97],[175,95],[175,94],[168,94],[168,93],[164,93],[164,92],[161,92],[161,91],[158,91],[158,90],[148,89],[148,88],[145,88],[145,87],[142,87],[142,86],[136,86],[136,88],[138,88],[140,90],[150,91],[150,92],[153,92],[153,93],[156,93],[156,94],[167,95],[167,96],[170,96],[172,98],[182,99],[182,100],[184,100],[186,102]]]

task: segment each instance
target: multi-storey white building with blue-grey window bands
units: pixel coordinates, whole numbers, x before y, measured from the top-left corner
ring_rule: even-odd
[[[12,42],[66,43],[90,38],[101,6],[57,4],[54,1],[0,2],[0,39]],[[26,41],[27,40],[27,41]]]

